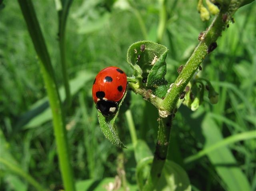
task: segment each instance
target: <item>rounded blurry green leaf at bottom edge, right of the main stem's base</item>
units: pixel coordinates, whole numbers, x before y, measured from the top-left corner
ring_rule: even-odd
[[[190,180],[186,171],[180,165],[166,160],[155,190],[191,191]]]

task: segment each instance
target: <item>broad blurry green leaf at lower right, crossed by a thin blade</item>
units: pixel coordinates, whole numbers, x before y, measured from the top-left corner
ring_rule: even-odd
[[[204,149],[223,140],[218,125],[209,114],[205,116],[202,122],[202,130],[206,139]],[[237,166],[236,159],[226,146],[213,150],[207,156],[212,165],[215,165],[215,169],[222,181],[227,185],[226,190],[251,190],[248,179],[240,167]],[[221,165],[218,166],[218,164]]]

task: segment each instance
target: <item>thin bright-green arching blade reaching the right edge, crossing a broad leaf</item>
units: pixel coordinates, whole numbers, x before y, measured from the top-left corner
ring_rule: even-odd
[[[232,144],[232,143],[235,143],[238,141],[243,141],[243,140],[252,139],[252,138],[256,138],[256,130],[229,136],[228,138],[225,138],[222,141],[217,142],[216,144],[214,144],[210,147],[207,147],[204,150],[201,150],[197,154],[185,158],[184,163],[190,163],[192,161],[195,161],[195,160],[205,156],[206,154],[212,152],[213,150],[216,150],[220,147],[224,147],[228,144]]]

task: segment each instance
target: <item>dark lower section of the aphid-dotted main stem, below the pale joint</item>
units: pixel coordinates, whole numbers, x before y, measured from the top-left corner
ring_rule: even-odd
[[[160,179],[162,169],[166,161],[168,146],[170,143],[171,126],[172,115],[169,115],[166,118],[160,117],[156,151],[150,169],[150,175],[146,181],[146,184],[143,187],[143,191],[154,190],[158,180]]]

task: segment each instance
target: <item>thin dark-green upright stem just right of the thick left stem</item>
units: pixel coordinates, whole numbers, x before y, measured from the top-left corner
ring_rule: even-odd
[[[72,0],[62,0],[62,9],[58,10],[58,17],[59,17],[59,47],[60,47],[60,63],[61,63],[61,71],[63,76],[63,82],[65,87],[66,93],[66,100],[65,100],[65,111],[68,110],[71,104],[71,96],[70,96],[70,87],[68,83],[68,73],[67,73],[67,66],[66,66],[66,43],[65,43],[65,36],[66,36],[66,21],[68,16],[68,10],[72,3]]]

